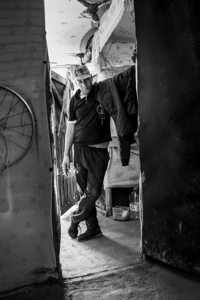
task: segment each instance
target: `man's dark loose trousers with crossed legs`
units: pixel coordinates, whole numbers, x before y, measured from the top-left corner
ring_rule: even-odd
[[[76,180],[82,196],[72,217],[76,224],[85,220],[87,230],[98,227],[95,202],[101,195],[109,159],[107,149],[74,145],[74,165],[78,170]]]

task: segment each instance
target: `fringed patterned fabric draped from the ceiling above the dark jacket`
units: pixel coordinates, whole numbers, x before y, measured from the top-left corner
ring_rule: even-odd
[[[135,16],[129,1],[113,1],[101,17],[93,36],[92,67],[116,74],[133,65],[131,59],[136,44]]]

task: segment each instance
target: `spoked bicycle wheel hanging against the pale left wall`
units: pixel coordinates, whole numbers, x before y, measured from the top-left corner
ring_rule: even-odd
[[[8,133],[10,137],[7,136]],[[30,107],[18,93],[0,84],[0,170],[11,167],[27,155],[34,137],[35,120]],[[7,164],[5,160],[7,160],[8,144],[10,155]]]

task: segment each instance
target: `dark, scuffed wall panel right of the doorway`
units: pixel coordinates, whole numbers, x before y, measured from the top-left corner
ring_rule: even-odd
[[[143,252],[200,272],[200,5],[135,0]]]

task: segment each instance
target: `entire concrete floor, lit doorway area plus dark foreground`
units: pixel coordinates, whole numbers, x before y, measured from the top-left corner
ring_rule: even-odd
[[[78,242],[61,217],[62,275],[5,300],[199,300],[200,276],[158,261],[144,260],[138,249],[140,220],[125,222],[98,214],[102,237]],[[86,230],[84,222],[82,232]]]

